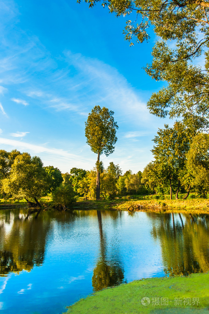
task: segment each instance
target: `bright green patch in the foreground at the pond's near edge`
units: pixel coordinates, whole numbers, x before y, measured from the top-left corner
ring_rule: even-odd
[[[150,304],[142,304],[144,297],[150,299]],[[208,308],[209,273],[201,273],[188,277],[142,279],[107,288],[79,300],[66,313],[205,314]]]

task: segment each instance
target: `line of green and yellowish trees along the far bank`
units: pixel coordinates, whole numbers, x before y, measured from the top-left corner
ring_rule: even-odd
[[[31,206],[41,206],[39,199],[49,195],[55,206],[70,206],[76,196],[96,197],[97,167],[100,171],[100,195],[168,194],[197,192],[207,197],[209,191],[209,135],[192,133],[180,122],[165,125],[154,138],[155,161],[144,171],[122,175],[119,165],[102,161],[91,171],[72,168],[64,174],[53,166],[44,167],[41,159],[28,153],[0,150],[0,192],[2,198],[25,199]],[[33,203],[35,201],[35,203]]]

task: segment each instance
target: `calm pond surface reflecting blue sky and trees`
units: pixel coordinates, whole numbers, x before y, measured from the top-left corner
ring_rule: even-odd
[[[0,211],[0,314],[60,314],[108,286],[209,270],[209,215],[26,216],[23,209]]]

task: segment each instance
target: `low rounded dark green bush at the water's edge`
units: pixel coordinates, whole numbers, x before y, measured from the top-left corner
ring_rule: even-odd
[[[61,184],[54,190],[52,202],[55,206],[69,207],[75,201],[75,192],[71,184]]]

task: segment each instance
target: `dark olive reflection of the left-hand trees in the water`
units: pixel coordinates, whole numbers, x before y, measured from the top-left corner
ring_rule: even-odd
[[[4,216],[0,226],[0,276],[42,265],[48,223],[34,218],[25,221],[25,215],[18,211],[5,212]]]

